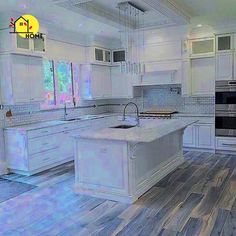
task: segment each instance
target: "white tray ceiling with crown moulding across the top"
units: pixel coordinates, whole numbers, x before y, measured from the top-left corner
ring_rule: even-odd
[[[119,37],[117,4],[124,0],[92,0],[107,19],[88,14],[73,6],[80,0],[0,0],[0,12],[29,13],[47,24],[86,35]],[[84,0],[83,0],[84,1]],[[86,1],[86,0],[85,0]],[[145,25],[164,27],[188,22],[192,24],[236,23],[236,0],[133,0],[147,12]],[[59,6],[58,5],[61,5]],[[100,7],[100,8],[99,8]],[[109,18],[109,17],[108,17]]]

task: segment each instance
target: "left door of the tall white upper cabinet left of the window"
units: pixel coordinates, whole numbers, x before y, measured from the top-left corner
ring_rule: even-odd
[[[29,72],[29,58],[23,55],[12,55],[12,90],[14,103],[30,101],[29,76],[34,77],[34,71]],[[32,74],[30,74],[32,73]]]

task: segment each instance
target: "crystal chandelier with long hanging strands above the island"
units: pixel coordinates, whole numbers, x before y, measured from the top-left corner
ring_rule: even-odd
[[[131,2],[121,2],[117,7],[119,9],[121,47],[126,50],[126,60],[120,64],[121,72],[143,74],[145,64],[140,61],[139,47],[144,45],[145,10]],[[121,22],[125,23],[121,24]],[[141,24],[143,30],[140,30]]]

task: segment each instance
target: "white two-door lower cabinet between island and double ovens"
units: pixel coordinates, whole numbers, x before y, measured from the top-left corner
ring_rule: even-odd
[[[214,149],[214,124],[196,123],[186,128],[183,137],[183,146],[188,148]]]

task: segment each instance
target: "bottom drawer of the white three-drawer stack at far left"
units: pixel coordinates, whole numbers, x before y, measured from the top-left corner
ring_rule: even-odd
[[[37,170],[60,161],[58,154],[59,149],[55,148],[50,151],[29,156],[29,170]]]

